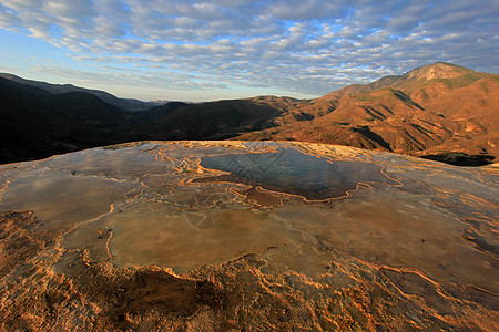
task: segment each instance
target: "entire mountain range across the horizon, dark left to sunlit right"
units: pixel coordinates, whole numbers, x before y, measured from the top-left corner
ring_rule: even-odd
[[[314,100],[164,105],[0,75],[0,163],[145,139],[302,141],[458,165],[499,156],[499,75],[437,62]],[[132,112],[142,111],[142,112]]]

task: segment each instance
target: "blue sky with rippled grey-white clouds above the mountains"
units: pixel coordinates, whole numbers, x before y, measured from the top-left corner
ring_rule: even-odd
[[[317,97],[445,61],[499,73],[499,0],[0,0],[0,72],[144,101]]]

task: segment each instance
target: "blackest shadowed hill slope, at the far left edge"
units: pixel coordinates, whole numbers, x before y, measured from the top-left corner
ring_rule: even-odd
[[[93,94],[51,94],[0,77],[0,162],[35,159],[122,141],[128,112]]]

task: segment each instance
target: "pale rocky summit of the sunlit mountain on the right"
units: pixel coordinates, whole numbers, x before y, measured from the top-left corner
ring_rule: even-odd
[[[410,80],[436,80],[455,79],[465,74],[473,73],[472,70],[447,62],[436,62],[417,68],[403,75],[403,79]]]

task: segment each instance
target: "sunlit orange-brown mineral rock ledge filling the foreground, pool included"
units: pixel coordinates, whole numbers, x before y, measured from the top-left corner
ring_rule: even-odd
[[[499,330],[499,169],[275,142],[0,166],[0,326]]]

